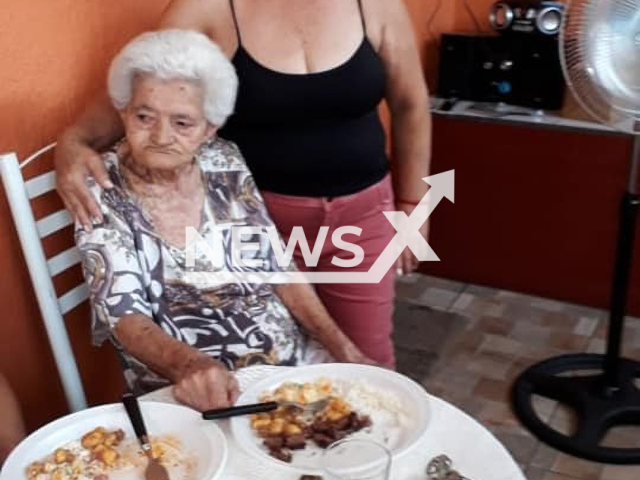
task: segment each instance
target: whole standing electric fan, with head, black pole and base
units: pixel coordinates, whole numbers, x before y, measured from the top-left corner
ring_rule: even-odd
[[[635,383],[640,362],[620,356],[640,204],[640,0],[570,1],[560,32],[560,57],[567,83],[584,109],[636,137],[621,202],[606,353],[562,355],[533,365],[514,384],[514,409],[532,433],[559,450],[604,463],[640,463],[640,448],[602,445],[609,429],[640,425]],[[533,395],[573,409],[575,431],[564,435],[543,422],[533,408]]]

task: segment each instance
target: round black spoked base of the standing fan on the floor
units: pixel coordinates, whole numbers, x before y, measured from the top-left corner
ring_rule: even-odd
[[[617,387],[604,381],[604,355],[562,355],[525,370],[513,386],[514,410],[536,437],[563,452],[602,463],[640,464],[640,448],[604,447],[600,442],[616,426],[640,425],[640,362],[621,358]],[[595,373],[594,373],[595,372]],[[574,410],[577,428],[564,435],[543,422],[533,409],[533,395],[556,400]]]

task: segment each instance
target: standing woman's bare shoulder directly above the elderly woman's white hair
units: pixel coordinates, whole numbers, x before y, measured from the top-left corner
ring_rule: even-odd
[[[171,0],[160,19],[160,28],[197,30],[231,55],[236,48],[229,0]]]

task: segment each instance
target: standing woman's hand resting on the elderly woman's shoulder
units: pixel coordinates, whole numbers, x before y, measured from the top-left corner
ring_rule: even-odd
[[[112,188],[100,154],[83,143],[73,132],[63,134],[55,149],[58,194],[75,220],[91,229],[91,220],[102,220],[102,213],[87,185],[93,177],[103,188]]]

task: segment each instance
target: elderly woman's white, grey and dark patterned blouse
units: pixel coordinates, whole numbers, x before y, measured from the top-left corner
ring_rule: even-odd
[[[94,309],[93,340],[111,340],[125,364],[132,388],[149,391],[168,383],[124,351],[113,335],[125,315],[151,318],[166,333],[222,361],[229,369],[252,364],[295,365],[329,360],[320,344],[308,338],[269,284],[235,281],[203,286],[190,275],[185,251],[168,244],[153,228],[119,170],[118,155],[104,154],[114,188],[90,181],[103,220],[91,232],[76,225],[76,244]],[[196,158],[205,182],[205,206],[199,233],[224,252],[222,268],[238,271],[230,252],[231,226],[273,227],[264,202],[242,156],[231,142],[217,139]],[[214,235],[213,230],[217,229]],[[222,232],[220,234],[219,232]],[[264,269],[282,271],[267,235],[257,235],[252,258]],[[217,242],[217,243],[215,243]],[[243,258],[245,258],[243,252]],[[220,270],[196,258],[199,270]],[[255,268],[254,268],[255,270]]]

